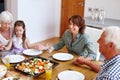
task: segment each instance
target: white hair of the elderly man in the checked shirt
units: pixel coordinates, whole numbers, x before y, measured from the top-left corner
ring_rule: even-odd
[[[105,32],[105,42],[113,42],[116,50],[120,50],[120,27],[118,26],[109,26],[103,28]]]

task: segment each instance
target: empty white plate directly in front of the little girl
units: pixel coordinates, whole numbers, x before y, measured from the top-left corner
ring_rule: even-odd
[[[37,56],[42,54],[42,51],[36,50],[36,49],[26,49],[23,51],[23,54],[28,56]]]

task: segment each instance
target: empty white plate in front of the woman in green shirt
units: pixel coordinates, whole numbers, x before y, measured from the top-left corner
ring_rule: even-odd
[[[73,55],[69,53],[56,53],[53,55],[53,58],[56,60],[66,61],[73,59]]]

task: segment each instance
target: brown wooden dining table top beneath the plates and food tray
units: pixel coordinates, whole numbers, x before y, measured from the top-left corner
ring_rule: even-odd
[[[64,51],[58,50],[58,51],[53,51],[51,53],[48,53],[46,50],[43,51],[42,54],[38,55],[40,57],[43,57],[45,59],[49,59],[51,61],[57,62],[58,65],[55,66],[52,69],[52,80],[59,80],[57,79],[57,76],[60,72],[65,71],[65,70],[73,70],[73,71],[77,71],[82,73],[85,76],[85,80],[94,80],[95,77],[97,76],[97,73],[94,72],[90,67],[86,66],[86,65],[79,65],[76,66],[75,64],[73,64],[74,60],[79,57],[78,55],[72,54],[74,57],[71,60],[67,60],[67,61],[60,61],[60,60],[56,60],[53,58],[54,54],[57,53],[63,53]],[[24,55],[25,60],[34,57],[34,56],[28,56],[28,55]],[[101,64],[100,61],[93,61],[95,64]],[[0,60],[0,64],[3,64],[2,60]],[[14,68],[14,65],[16,65],[17,63],[11,63],[11,68],[8,69],[6,75],[3,77],[8,77],[8,76],[14,76],[14,77],[20,77],[22,78],[22,80],[45,80],[45,73],[40,74],[37,77],[31,77],[30,75],[24,74],[21,71],[18,71]],[[4,65],[4,64],[3,64]],[[70,76],[69,76],[70,77]]]

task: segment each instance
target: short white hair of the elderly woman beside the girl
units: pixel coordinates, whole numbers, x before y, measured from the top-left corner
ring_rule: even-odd
[[[0,14],[0,22],[12,22],[13,15],[9,11],[3,11]]]

